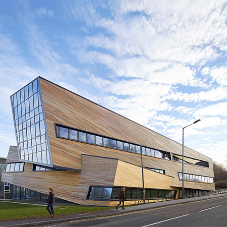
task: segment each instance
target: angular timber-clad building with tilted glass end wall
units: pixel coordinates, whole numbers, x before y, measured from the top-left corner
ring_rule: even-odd
[[[126,188],[142,198],[177,198],[182,145],[38,77],[11,96],[17,147],[10,147],[3,181],[83,205],[115,205]],[[185,147],[186,194],[215,188],[212,160]]]

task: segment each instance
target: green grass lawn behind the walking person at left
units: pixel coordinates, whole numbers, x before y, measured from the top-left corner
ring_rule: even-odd
[[[55,216],[87,213],[111,209],[112,207],[86,207],[78,205],[58,205],[54,206]],[[49,217],[45,206],[26,205],[10,202],[0,202],[0,221],[28,219],[37,217]]]

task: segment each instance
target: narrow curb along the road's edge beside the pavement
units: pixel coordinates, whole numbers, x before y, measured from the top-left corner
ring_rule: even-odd
[[[226,194],[223,195],[219,195],[219,196],[215,196],[212,198],[219,198],[219,197],[226,197]],[[65,222],[70,222],[70,221],[79,221],[79,220],[89,220],[89,219],[94,219],[94,218],[100,218],[100,217],[112,217],[112,216],[118,216],[121,214],[130,214],[130,213],[135,213],[138,211],[146,211],[146,210],[152,210],[155,209],[157,207],[168,207],[168,206],[172,206],[172,205],[177,205],[177,204],[185,204],[185,203],[190,203],[193,201],[205,201],[205,200],[209,200],[212,198],[205,198],[205,199],[199,199],[199,200],[192,200],[192,201],[182,201],[179,203],[174,203],[174,204],[160,204],[156,207],[150,207],[150,208],[140,208],[140,209],[136,209],[136,210],[125,210],[123,212],[119,212],[119,211],[112,211],[109,213],[104,213],[104,214],[87,214],[87,215],[81,215],[81,216],[77,216],[77,217],[71,217],[71,218],[61,218],[61,219],[50,219],[50,220],[45,220],[45,221],[38,221],[37,222],[27,222],[27,223],[20,223],[20,224],[16,224],[16,223],[12,223],[12,224],[8,224],[8,225],[4,225],[5,227],[22,227],[22,226],[40,226],[40,225],[47,225],[47,224],[56,224],[56,223],[65,223]],[[34,220],[34,219],[32,219]],[[1,222],[0,222],[0,226]]]

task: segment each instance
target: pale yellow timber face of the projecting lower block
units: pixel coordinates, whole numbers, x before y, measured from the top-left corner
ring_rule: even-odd
[[[170,189],[173,177],[144,169],[144,187],[154,189]],[[114,186],[140,187],[142,188],[142,169],[139,166],[118,161]]]

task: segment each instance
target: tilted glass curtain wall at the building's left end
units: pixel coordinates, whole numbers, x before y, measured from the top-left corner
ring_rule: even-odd
[[[11,96],[21,161],[52,165],[39,78]]]

